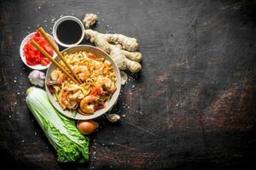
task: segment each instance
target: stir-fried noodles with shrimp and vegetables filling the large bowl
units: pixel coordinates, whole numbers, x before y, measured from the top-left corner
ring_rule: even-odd
[[[78,110],[80,114],[93,114],[104,108],[117,89],[111,63],[84,51],[64,54],[64,58],[83,83],[75,84],[58,68],[50,74],[51,80],[47,85],[62,109]],[[68,71],[63,61],[59,64]]]

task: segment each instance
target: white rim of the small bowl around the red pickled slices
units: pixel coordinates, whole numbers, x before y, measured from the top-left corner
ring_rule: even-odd
[[[24,40],[21,42],[20,44],[20,58],[22,59],[23,63],[28,66],[29,68],[32,68],[34,70],[44,70],[44,69],[47,69],[49,67],[49,65],[28,65],[26,63],[26,57],[25,57],[25,54],[24,54],[24,51],[23,51],[23,48],[24,46],[26,45],[26,42],[28,42],[33,36],[34,36],[35,32],[29,34],[28,36],[26,36],[24,38]],[[59,49],[57,43],[55,42],[55,39],[53,37],[51,37],[49,34],[47,34],[48,37],[52,40],[52,42],[54,42],[55,46]],[[55,58],[57,54],[55,54],[55,51],[54,51],[54,54],[53,54],[53,58]]]

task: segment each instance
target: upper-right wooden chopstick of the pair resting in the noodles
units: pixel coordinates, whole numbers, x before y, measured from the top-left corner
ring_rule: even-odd
[[[82,82],[80,81],[79,77],[77,76],[77,74],[73,71],[73,69],[71,68],[71,66],[67,63],[66,59],[63,57],[63,55],[61,54],[61,52],[58,50],[58,48],[56,48],[55,44],[49,39],[48,35],[46,34],[46,32],[44,31],[43,27],[40,27],[38,29],[38,31],[42,34],[42,36],[44,37],[44,39],[46,40],[46,42],[49,43],[49,46],[51,48],[53,48],[55,50],[55,53],[61,58],[61,60],[64,62],[64,64],[67,66],[68,70],[72,72],[73,76],[75,77],[75,79],[79,82],[79,84],[82,84]]]

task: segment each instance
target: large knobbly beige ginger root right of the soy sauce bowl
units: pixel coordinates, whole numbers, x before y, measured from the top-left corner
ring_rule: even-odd
[[[85,30],[84,33],[86,39],[90,39],[96,47],[102,48],[110,55],[120,70],[137,72],[142,69],[139,64],[142,54],[137,52],[137,39],[122,34],[102,34],[93,30]]]

